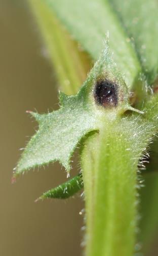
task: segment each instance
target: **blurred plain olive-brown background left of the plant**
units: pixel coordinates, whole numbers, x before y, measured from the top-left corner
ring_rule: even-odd
[[[42,192],[66,180],[58,163],[29,172],[11,184],[20,148],[34,133],[26,110],[58,108],[56,78],[25,0],[0,0],[1,228],[0,255],[81,255],[84,203],[34,203]],[[27,136],[26,136],[27,135]],[[77,170],[73,169],[71,176]]]

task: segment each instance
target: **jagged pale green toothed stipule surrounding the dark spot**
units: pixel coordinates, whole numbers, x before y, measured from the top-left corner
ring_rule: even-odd
[[[100,102],[96,102],[96,84],[102,81],[108,81],[115,87],[112,90],[116,94],[116,107],[105,110]],[[99,130],[104,116],[111,119],[111,113],[115,118],[119,113],[133,109],[128,103],[126,83],[111,59],[107,44],[80,92],[75,96],[60,93],[59,99],[59,110],[43,115],[30,112],[39,129],[26,146],[14,177],[32,167],[54,161],[59,161],[69,173],[70,158],[82,137],[90,131]]]

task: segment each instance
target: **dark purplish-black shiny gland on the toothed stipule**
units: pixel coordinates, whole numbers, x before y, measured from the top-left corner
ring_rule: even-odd
[[[117,106],[117,86],[110,81],[101,80],[96,83],[94,97],[99,105],[104,107]]]

